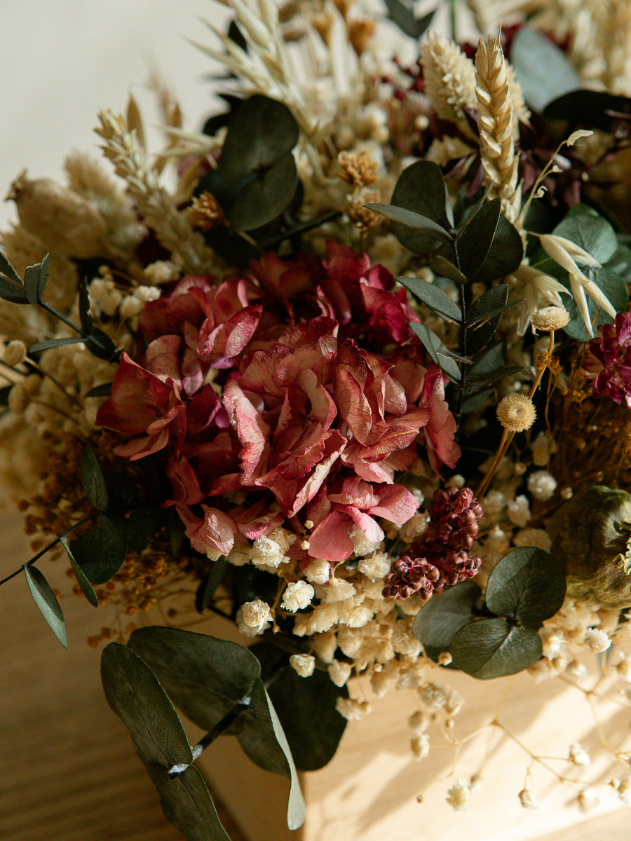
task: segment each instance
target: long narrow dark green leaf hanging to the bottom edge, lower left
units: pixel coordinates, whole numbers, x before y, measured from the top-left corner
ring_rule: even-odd
[[[101,679],[112,710],[130,731],[135,749],[156,786],[162,810],[188,841],[230,841],[197,769],[169,776],[193,754],[176,711],[142,660],[120,643],[109,643]]]

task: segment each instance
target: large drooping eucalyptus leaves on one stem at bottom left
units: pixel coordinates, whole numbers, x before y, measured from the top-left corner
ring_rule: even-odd
[[[176,628],[142,628],[127,647],[110,643],[103,651],[109,706],[128,727],[165,815],[191,841],[227,836],[191,765],[193,753],[167,695],[200,727],[215,731],[213,737],[220,735],[221,722],[230,720],[225,733],[236,735],[253,761],[289,777],[289,828],[304,821],[294,760],[260,675],[260,664],[247,648]],[[174,765],[185,770],[170,776]]]

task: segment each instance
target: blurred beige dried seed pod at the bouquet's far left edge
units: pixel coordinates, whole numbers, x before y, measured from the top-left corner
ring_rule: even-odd
[[[85,198],[50,178],[34,181],[22,170],[4,197],[13,199],[20,223],[52,254],[110,257],[103,216]]]

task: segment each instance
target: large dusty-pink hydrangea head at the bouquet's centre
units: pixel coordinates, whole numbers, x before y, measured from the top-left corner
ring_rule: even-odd
[[[390,272],[337,243],[324,260],[182,278],[141,313],[146,347],[123,356],[98,422],[128,436],[120,455],[160,453],[164,505],[199,552],[247,550],[282,525],[291,557],[336,563],[351,532],[380,542],[379,518],[414,514],[398,473],[459,458],[415,319]]]

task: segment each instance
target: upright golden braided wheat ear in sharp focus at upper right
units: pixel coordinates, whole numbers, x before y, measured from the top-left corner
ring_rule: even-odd
[[[490,198],[501,198],[503,214],[514,221],[519,212],[514,111],[506,62],[496,38],[489,37],[486,44],[480,39],[475,53],[475,94],[485,187]]]

